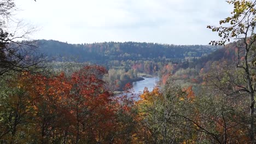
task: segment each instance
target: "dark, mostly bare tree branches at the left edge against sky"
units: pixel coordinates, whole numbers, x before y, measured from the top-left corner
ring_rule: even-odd
[[[35,29],[24,29],[22,22],[15,22],[13,32],[8,29],[9,22],[14,22],[10,17],[15,9],[13,0],[0,2],[0,76],[10,71],[28,70],[40,62],[39,55],[34,51],[35,41],[18,41],[26,39]]]

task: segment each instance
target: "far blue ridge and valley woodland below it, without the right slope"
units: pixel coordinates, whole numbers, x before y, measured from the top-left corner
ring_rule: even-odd
[[[71,69],[79,69],[86,64],[103,65],[108,69],[109,75],[104,80],[108,82],[109,87],[118,91],[123,91],[128,82],[143,80],[137,76],[139,73],[162,77],[162,75],[171,74],[170,71],[162,71],[165,67],[184,63],[182,68],[187,68],[185,63],[222,48],[222,46],[134,42],[95,44],[67,44],[55,40],[33,42],[38,46],[39,52],[43,53],[49,61],[53,61],[47,65],[51,65],[55,71],[66,71],[69,75]]]

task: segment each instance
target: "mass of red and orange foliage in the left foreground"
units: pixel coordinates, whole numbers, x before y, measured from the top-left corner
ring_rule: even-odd
[[[116,133],[120,125],[119,108],[124,111],[130,108],[125,103],[117,104],[105,87],[102,76],[106,73],[106,69],[97,65],[86,66],[71,77],[64,73],[57,76],[22,73],[10,83],[10,87],[22,92],[22,97],[17,99],[19,93],[14,93],[7,102],[9,107],[25,105],[24,112],[14,116],[19,121],[12,124],[15,127],[1,128],[0,140],[20,143],[24,139],[15,136],[22,134],[26,141],[36,143],[114,143],[119,139]]]

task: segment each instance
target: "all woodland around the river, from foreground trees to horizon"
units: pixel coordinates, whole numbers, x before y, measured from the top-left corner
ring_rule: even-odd
[[[256,1],[228,3],[219,46],[176,46],[16,41],[0,1],[0,143],[256,143]]]

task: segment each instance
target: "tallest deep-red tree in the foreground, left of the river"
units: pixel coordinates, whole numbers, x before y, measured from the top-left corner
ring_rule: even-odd
[[[104,143],[111,139],[114,112],[110,106],[112,94],[102,80],[105,74],[107,70],[98,65],[85,66],[72,74],[68,103],[75,115],[75,143]]]

